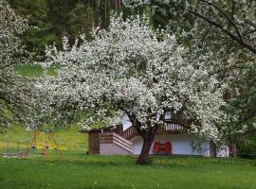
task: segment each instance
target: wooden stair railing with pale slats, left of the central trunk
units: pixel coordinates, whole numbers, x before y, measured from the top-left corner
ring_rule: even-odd
[[[119,136],[115,132],[102,133],[100,135],[100,144],[115,144],[126,151],[133,153],[133,143]]]

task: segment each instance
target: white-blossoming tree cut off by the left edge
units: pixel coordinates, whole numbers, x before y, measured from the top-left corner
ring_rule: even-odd
[[[0,0],[0,129],[19,121],[30,129],[52,123],[56,110],[47,107],[47,94],[35,91],[34,78],[23,77],[15,67],[27,63],[29,53],[19,38],[29,28],[6,0]]]

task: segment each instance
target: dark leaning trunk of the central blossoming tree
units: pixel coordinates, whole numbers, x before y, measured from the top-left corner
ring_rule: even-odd
[[[137,164],[141,164],[141,165],[148,163],[149,153],[155,139],[155,134],[147,133],[146,136],[142,136],[142,138],[143,138],[143,146],[139,154],[139,157],[137,159]]]

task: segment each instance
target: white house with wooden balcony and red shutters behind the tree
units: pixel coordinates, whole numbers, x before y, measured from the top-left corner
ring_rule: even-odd
[[[165,122],[166,125],[156,131],[150,154],[216,156],[219,150],[213,143],[202,141],[195,134],[189,133],[189,129],[180,124],[180,121],[167,115]],[[139,155],[143,145],[137,130],[125,119],[116,129],[90,129],[82,132],[88,133],[88,154]],[[227,147],[229,150],[229,146]]]

